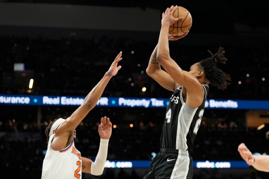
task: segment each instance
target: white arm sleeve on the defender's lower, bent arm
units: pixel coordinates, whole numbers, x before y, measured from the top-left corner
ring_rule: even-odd
[[[109,139],[100,139],[100,146],[95,161],[91,163],[91,174],[100,176],[103,174],[107,157]]]

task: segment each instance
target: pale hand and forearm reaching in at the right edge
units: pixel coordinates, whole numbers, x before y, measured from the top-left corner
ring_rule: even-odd
[[[249,166],[258,171],[269,172],[269,155],[253,155],[244,143],[238,146],[238,152]]]

